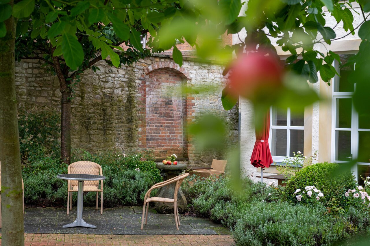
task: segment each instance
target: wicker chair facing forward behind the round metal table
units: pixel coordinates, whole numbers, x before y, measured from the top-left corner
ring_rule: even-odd
[[[103,175],[101,166],[92,161],[76,161],[68,166],[69,174],[94,174]],[[67,214],[69,214],[72,207],[72,192],[78,191],[78,181],[68,180],[68,190],[67,190]],[[100,192],[100,214],[103,214],[103,181],[84,181],[84,192],[94,191],[96,192],[96,208],[98,209],[98,194]],[[71,196],[71,198],[70,198]]]

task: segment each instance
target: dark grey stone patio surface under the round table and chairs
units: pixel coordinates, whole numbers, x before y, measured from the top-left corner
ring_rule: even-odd
[[[149,209],[148,224],[141,230],[139,207],[122,206],[104,209],[83,208],[83,219],[97,228],[62,228],[76,218],[76,211],[67,215],[63,208],[26,208],[24,215],[25,233],[55,234],[110,234],[110,235],[228,235],[230,230],[212,221],[192,216],[180,215],[179,230],[176,230],[174,214],[159,214]],[[142,209],[142,208],[141,208]],[[135,213],[136,212],[136,213]],[[1,232],[1,229],[0,229]]]

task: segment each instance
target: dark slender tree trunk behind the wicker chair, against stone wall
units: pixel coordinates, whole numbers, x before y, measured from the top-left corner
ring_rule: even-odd
[[[62,92],[62,115],[61,115],[61,160],[71,164],[71,93]]]

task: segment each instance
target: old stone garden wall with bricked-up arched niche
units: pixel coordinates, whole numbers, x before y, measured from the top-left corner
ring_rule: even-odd
[[[186,123],[202,113],[213,112],[228,123],[229,141],[238,140],[238,112],[225,111],[221,103],[223,67],[201,64],[192,58],[180,68],[171,58],[152,56],[131,66],[115,68],[105,61],[100,71],[88,71],[74,88],[72,102],[72,146],[89,151],[120,148],[154,150],[156,157],[172,153],[188,157],[192,164],[207,165],[217,153],[197,153],[186,136]],[[60,110],[59,83],[39,61],[26,60],[16,66],[19,107],[54,106]],[[219,86],[198,95],[183,95],[181,86]]]

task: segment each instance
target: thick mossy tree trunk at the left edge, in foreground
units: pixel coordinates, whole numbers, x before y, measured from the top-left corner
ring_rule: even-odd
[[[13,5],[13,1],[10,4]],[[24,245],[22,168],[14,77],[16,20],[10,17],[4,23],[7,34],[0,38],[1,243]]]

